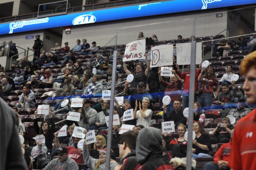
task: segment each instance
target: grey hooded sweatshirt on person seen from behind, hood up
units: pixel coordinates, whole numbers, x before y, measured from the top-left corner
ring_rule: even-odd
[[[170,163],[163,159],[162,139],[161,131],[157,128],[141,129],[136,139],[136,159],[139,164],[135,169],[173,170]]]

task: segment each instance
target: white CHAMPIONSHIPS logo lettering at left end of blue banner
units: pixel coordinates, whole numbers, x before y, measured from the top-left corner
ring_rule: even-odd
[[[30,20],[30,21],[17,21],[15,23],[10,23],[10,32],[9,34],[13,33],[14,29],[17,28],[22,28],[23,26],[26,25],[34,25],[34,24],[41,24],[41,23],[47,23],[49,21],[49,18],[41,18],[41,19],[37,19],[37,20]]]

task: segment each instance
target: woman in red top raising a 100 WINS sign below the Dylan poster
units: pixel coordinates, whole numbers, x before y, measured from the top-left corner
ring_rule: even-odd
[[[168,95],[171,98],[170,104],[167,105],[167,107],[166,107],[167,112],[174,110],[173,109],[173,104],[174,104],[175,100],[180,100],[181,101],[181,94],[179,94],[179,93],[175,94],[174,93],[176,91],[178,92],[178,91],[181,90],[181,86],[182,86],[181,79],[176,74],[175,70],[172,70],[172,73],[173,74],[172,74],[172,76],[170,76],[170,83],[169,83],[169,82],[165,82],[162,79],[162,76],[160,76],[161,75],[161,70],[158,71],[159,82],[163,87],[165,87],[164,93],[165,93],[165,95]]]

